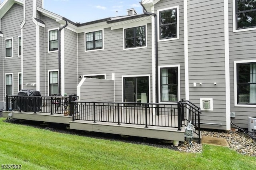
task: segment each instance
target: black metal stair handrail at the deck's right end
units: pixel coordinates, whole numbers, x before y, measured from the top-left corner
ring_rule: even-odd
[[[182,101],[180,102],[180,109],[181,109],[181,119],[182,119],[182,125],[187,126],[188,123],[192,123],[194,126],[194,133],[198,135],[198,142],[200,143],[200,135],[201,135],[201,130],[200,130],[200,107],[194,105],[190,101]]]

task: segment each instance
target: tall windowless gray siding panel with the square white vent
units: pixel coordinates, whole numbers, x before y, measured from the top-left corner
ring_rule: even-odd
[[[212,98],[213,111],[202,111],[200,122],[222,123],[203,127],[226,129],[224,59],[223,0],[188,0],[189,98],[198,106],[201,97]]]

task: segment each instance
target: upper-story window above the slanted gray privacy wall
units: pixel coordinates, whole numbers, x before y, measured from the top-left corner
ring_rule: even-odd
[[[86,33],[86,51],[92,49],[102,49],[102,30]]]

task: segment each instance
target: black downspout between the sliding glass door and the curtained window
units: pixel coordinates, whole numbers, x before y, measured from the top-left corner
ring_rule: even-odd
[[[144,14],[148,14],[148,15],[154,15],[155,16],[155,57],[156,57],[156,103],[159,102],[159,99],[158,99],[158,29],[157,29],[157,15],[155,13],[152,13],[152,12],[147,12],[145,7],[142,5],[142,2],[140,2],[140,5],[142,6],[143,8],[143,13]],[[152,82],[153,83],[153,82]]]

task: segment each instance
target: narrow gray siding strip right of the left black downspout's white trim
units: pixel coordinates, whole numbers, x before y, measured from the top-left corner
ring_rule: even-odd
[[[65,35],[65,93],[76,93],[77,75],[77,33],[64,29]]]

